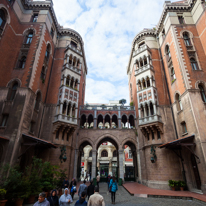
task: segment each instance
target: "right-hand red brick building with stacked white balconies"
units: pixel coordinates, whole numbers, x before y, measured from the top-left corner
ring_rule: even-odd
[[[180,179],[206,192],[205,16],[205,1],[166,1],[157,27],[132,43],[127,74],[138,119],[139,180],[150,187]]]

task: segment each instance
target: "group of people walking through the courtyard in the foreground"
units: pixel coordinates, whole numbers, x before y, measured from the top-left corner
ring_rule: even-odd
[[[79,199],[76,201],[75,206],[105,206],[104,198],[99,194],[99,181],[97,186],[93,185],[93,181],[90,181],[90,185],[87,187],[86,180],[80,185],[78,189]],[[69,184],[68,179],[63,182],[63,195],[58,197],[57,191],[52,190],[51,195],[46,198],[44,192],[39,194],[38,201],[34,206],[69,206],[74,199],[76,193],[76,180],[73,178]],[[112,204],[115,204],[115,194],[118,190],[115,177],[108,176],[108,190],[111,192]],[[88,197],[88,202],[86,201]]]

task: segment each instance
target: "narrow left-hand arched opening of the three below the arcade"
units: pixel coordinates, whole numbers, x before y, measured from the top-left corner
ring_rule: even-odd
[[[78,160],[77,160],[77,180],[89,181],[92,174],[92,145],[89,141],[84,141],[79,146]]]

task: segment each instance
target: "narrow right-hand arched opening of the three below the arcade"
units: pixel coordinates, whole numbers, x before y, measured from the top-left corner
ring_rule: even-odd
[[[137,150],[133,142],[127,141],[124,149],[124,180],[136,181],[138,179]]]

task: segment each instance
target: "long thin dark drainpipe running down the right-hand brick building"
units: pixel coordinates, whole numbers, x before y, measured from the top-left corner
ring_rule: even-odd
[[[169,102],[170,102],[171,111],[172,111],[172,120],[173,120],[173,124],[174,124],[174,127],[175,127],[175,135],[176,135],[176,139],[178,139],[177,127],[176,127],[174,112],[173,112],[173,108],[172,108],[172,101],[171,101],[171,97],[170,97],[170,92],[169,92],[169,87],[168,87],[168,81],[167,81],[166,72],[165,72],[165,66],[164,66],[164,62],[163,62],[163,58],[162,58],[162,52],[161,52],[161,49],[160,49],[160,45],[159,45],[159,41],[158,41],[158,40],[159,40],[159,38],[158,38],[158,36],[157,36],[157,42],[158,42],[159,53],[160,53],[160,58],[161,58],[161,64],[162,64],[162,68],[163,68],[163,72],[164,72],[164,76],[165,76],[167,93],[168,93],[168,96],[169,96]],[[186,175],[185,175],[184,160],[183,160],[183,158],[182,158],[182,152],[181,152],[181,150],[180,150],[180,159],[181,159],[181,164],[182,164],[182,176],[183,176],[184,181],[187,182]]]

